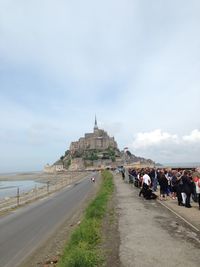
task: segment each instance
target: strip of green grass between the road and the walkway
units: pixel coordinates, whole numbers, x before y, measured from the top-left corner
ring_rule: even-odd
[[[101,224],[108,199],[114,189],[112,174],[103,171],[102,177],[100,191],[86,209],[81,224],[72,233],[58,267],[102,266],[103,256],[98,250],[98,244],[101,242]]]

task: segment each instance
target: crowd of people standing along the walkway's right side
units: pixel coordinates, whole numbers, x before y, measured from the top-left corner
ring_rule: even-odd
[[[200,172],[184,169],[129,169],[129,182],[140,188],[139,196],[145,199],[157,198],[159,189],[161,201],[168,197],[176,200],[179,206],[191,208],[191,198],[198,202],[200,210]],[[124,175],[122,175],[124,179]]]

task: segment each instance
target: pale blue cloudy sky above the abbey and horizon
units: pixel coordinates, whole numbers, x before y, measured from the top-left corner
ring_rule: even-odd
[[[0,0],[0,173],[42,170],[98,127],[200,162],[199,0]]]

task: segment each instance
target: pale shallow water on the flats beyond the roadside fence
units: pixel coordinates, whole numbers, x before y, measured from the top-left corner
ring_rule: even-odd
[[[19,188],[19,194],[26,193],[34,188],[39,188],[44,186],[43,183],[38,183],[35,181],[0,181],[0,199],[6,197],[14,197],[17,195]]]

